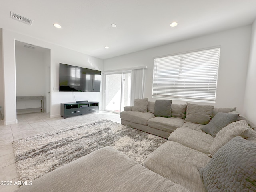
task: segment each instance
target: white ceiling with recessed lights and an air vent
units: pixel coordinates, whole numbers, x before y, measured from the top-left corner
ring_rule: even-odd
[[[32,19],[32,25],[10,19],[10,11]],[[256,0],[0,0],[0,28],[101,59],[255,19]],[[175,28],[170,27],[173,21],[178,22]]]

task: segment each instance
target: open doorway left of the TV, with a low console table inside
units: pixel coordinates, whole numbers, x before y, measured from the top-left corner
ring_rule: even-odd
[[[44,103],[44,112],[50,113],[50,51],[15,40],[16,96],[44,96],[44,102],[16,101],[17,110],[40,112],[42,110],[37,108]]]

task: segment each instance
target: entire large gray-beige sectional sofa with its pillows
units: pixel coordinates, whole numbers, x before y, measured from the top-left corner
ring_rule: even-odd
[[[144,166],[105,147],[16,192],[255,192],[256,131],[246,118],[236,108],[168,102],[158,113],[155,102],[139,100],[120,114],[122,124],[168,138]]]

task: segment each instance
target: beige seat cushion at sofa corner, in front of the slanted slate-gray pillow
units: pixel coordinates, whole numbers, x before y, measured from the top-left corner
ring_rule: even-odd
[[[168,138],[168,141],[180,143],[205,154],[209,154],[213,140],[209,134],[184,127],[177,128]]]

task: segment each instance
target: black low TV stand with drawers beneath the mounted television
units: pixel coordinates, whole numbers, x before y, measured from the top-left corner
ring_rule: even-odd
[[[99,112],[98,101],[60,104],[60,114],[64,119],[70,116],[84,115],[92,112]]]

